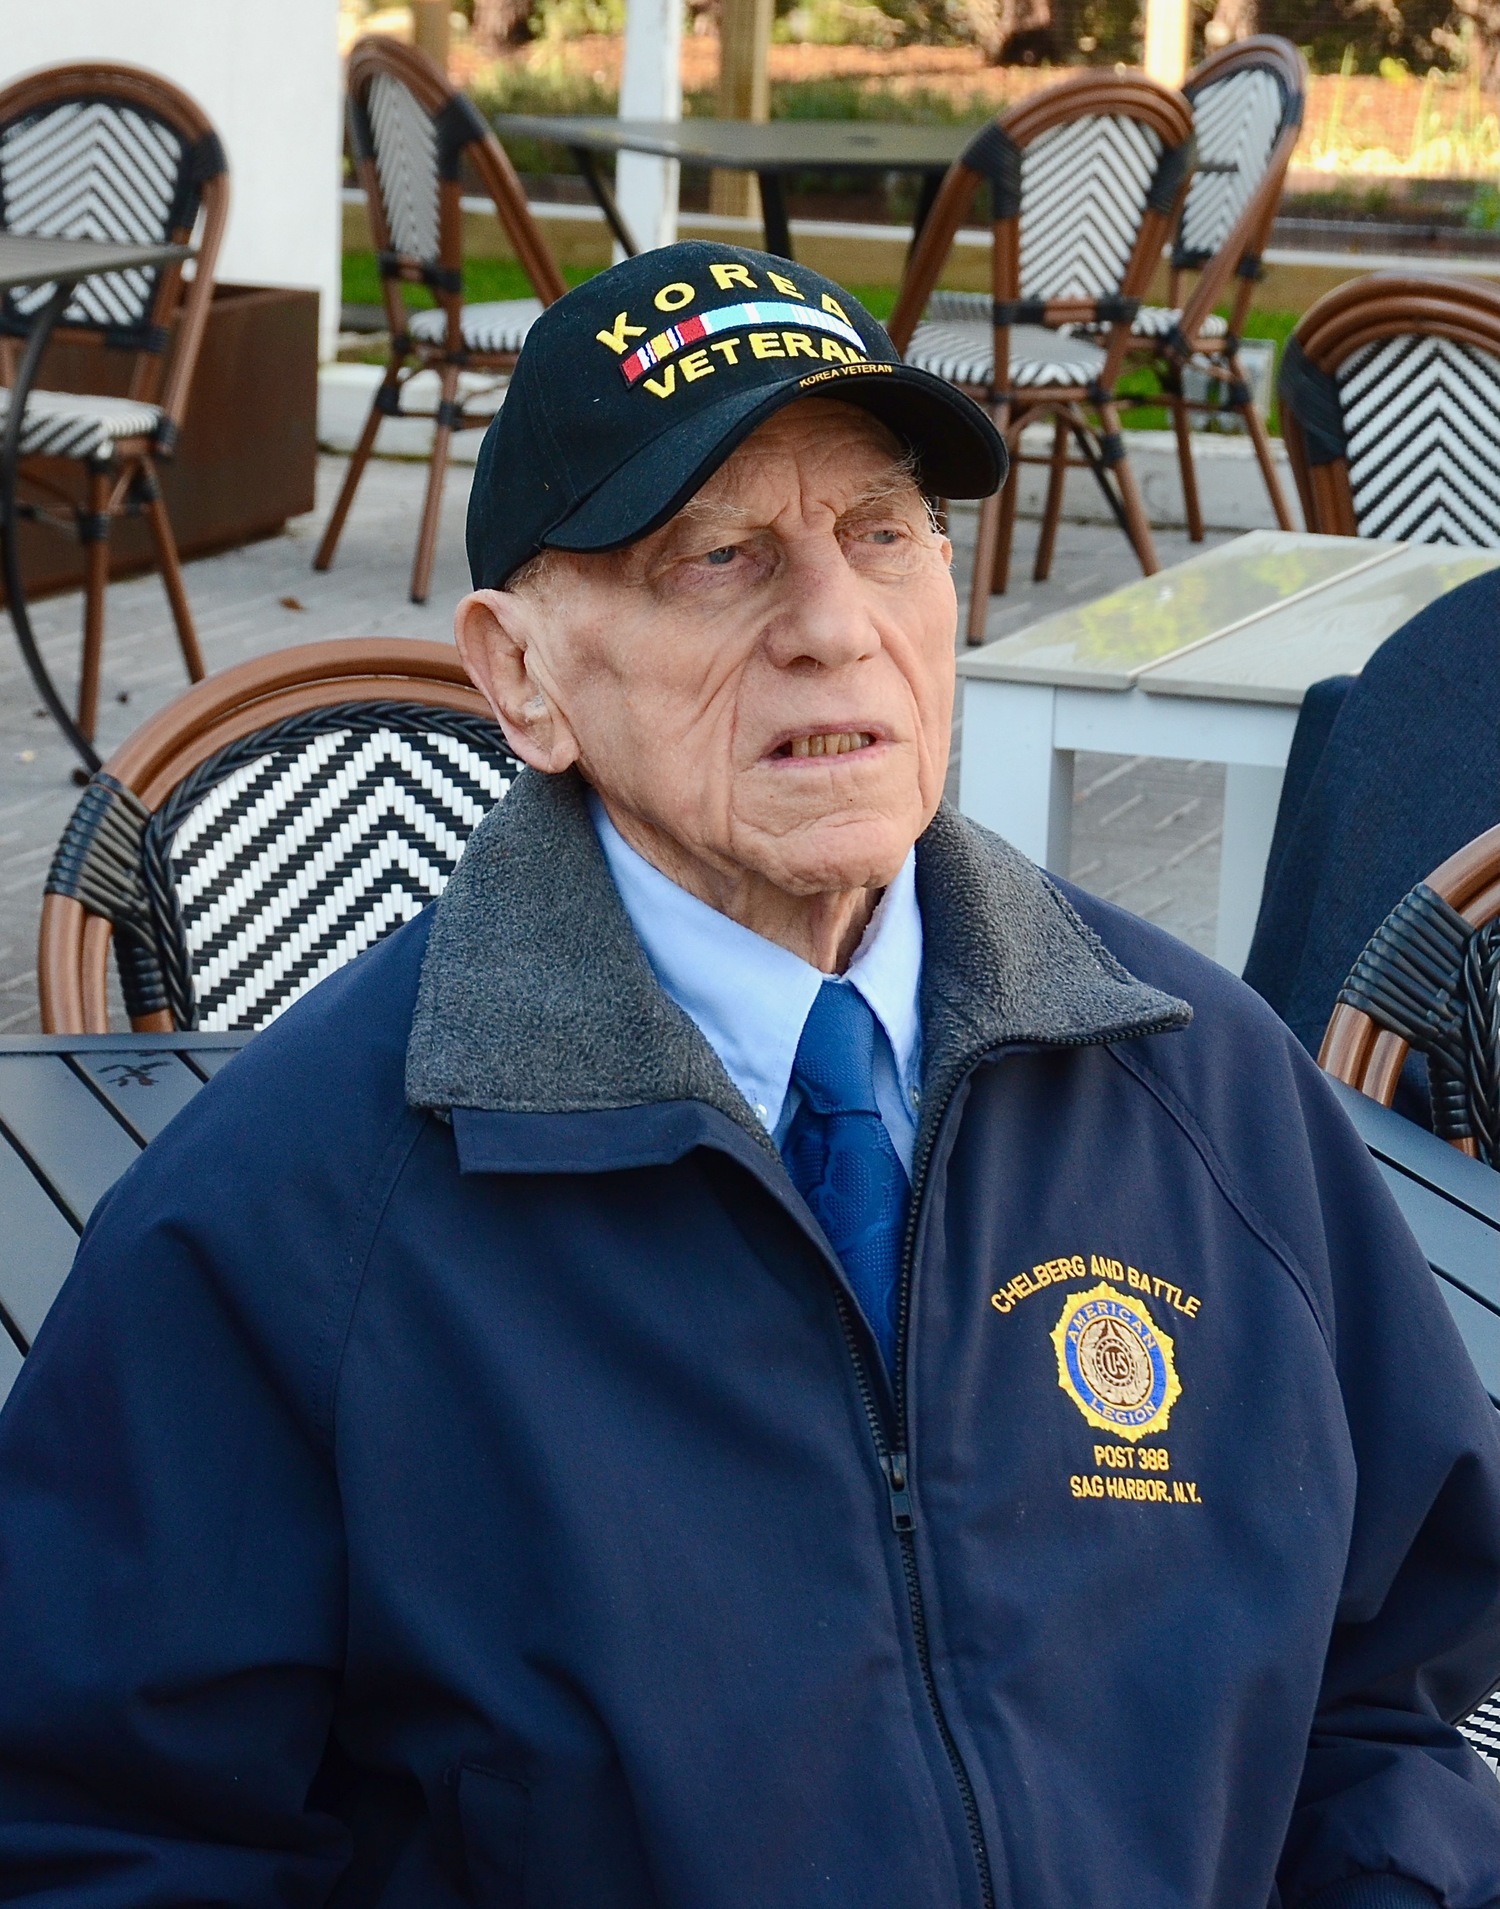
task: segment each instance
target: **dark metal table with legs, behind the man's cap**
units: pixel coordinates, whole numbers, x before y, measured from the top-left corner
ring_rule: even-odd
[[[914,221],[914,233],[920,233],[943,174],[973,137],[971,126],[899,126],[880,120],[622,120],[502,113],[492,124],[502,139],[550,139],[567,147],[630,258],[637,252],[635,237],[595,164],[599,155],[651,153],[683,166],[754,172],[760,179],[765,250],[792,258],[782,189],[788,172],[914,172],[922,181]]]

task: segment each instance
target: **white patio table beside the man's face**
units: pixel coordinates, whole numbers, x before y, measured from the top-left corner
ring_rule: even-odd
[[[1250,953],[1298,708],[1500,550],[1250,531],[958,659],[958,806],[1069,871],[1074,750],[1221,762],[1216,956]]]

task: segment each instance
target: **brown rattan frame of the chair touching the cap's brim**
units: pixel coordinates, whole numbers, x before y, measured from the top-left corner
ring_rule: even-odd
[[[1120,437],[1120,414],[1115,391],[1120,368],[1130,351],[1130,319],[1139,307],[1151,284],[1151,275],[1162,246],[1176,223],[1181,197],[1187,191],[1193,158],[1193,113],[1181,94],[1158,86],[1155,80],[1137,74],[1080,74],[1034,94],[1023,105],[1000,115],[969,145],[968,153],[956,160],[939,187],[931,214],[922,227],[922,235],[912,248],[906,273],[897,294],[895,311],[887,326],[899,351],[906,351],[916,332],[918,321],[927,307],[943,265],[952,250],[958,227],[969,214],[979,187],[987,174],[979,170],[983,143],[994,134],[1004,136],[1010,147],[1025,149],[1057,126],[1067,126],[1090,116],[1122,116],[1149,126],[1162,141],[1166,155],[1181,155],[1179,179],[1164,204],[1147,206],[1135,231],[1135,241],[1118,284],[1122,317],[1109,325],[1105,338],[1105,361],[1095,386],[1038,386],[1010,388],[1010,321],[994,325],[994,370],[989,389],[968,388],[969,397],[983,403],[994,416],[1006,437],[1011,464],[1023,462],[1021,433],[1029,424],[1044,418],[1053,420],[1053,449],[1050,458],[1048,502],[1042,519],[1042,535],[1036,546],[1036,578],[1046,578],[1052,567],[1052,546],[1057,519],[1063,508],[1065,470],[1071,462],[1069,441],[1076,443],[1082,458],[1097,475],[1116,512],[1120,527],[1130,538],[1141,571],[1149,577],[1156,571],[1156,550],[1151,540],[1151,525],[1145,517],[1135,475],[1130,470],[1124,441]],[[1021,305],[1021,204],[1019,191],[1006,193],[994,187],[998,204],[992,221],[990,244],[990,294],[996,319]],[[1010,202],[1006,202],[1010,199]],[[1027,311],[1027,323],[1061,328],[1067,325],[1090,325],[1099,311],[1094,300],[1050,300],[1038,311]],[[1088,420],[1088,410],[1097,416],[1097,428]],[[985,498],[979,512],[979,538],[973,557],[973,586],[969,592],[968,640],[985,640],[985,619],[989,598],[1004,592],[1010,578],[1010,550],[1015,531],[1015,481],[1002,487],[998,496]]]

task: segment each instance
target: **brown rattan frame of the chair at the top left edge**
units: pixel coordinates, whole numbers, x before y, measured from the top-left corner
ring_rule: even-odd
[[[149,330],[160,344],[153,340],[151,347],[132,351],[126,388],[128,397],[160,409],[160,426],[151,437],[116,439],[113,458],[107,464],[88,460],[82,500],[46,472],[42,456],[27,456],[19,464],[31,515],[76,533],[84,542],[84,649],[78,680],[78,727],[92,741],[99,708],[99,666],[105,638],[109,527],[116,517],[135,514],[145,517],[187,674],[193,682],[204,674],[193,611],[183,586],[177,540],[156,479],[156,460],[172,456],[187,416],[193,372],[214,298],[214,267],[229,218],[229,172],[214,124],[197,101],[155,73],[113,61],[48,67],[15,80],[0,90],[0,124],[74,99],[139,107],[164,120],[189,149],[197,168],[195,220],[164,235],[166,242],[172,244],[195,244],[193,271],[189,275],[183,271],[183,263],[174,263],[158,273]],[[78,344],[115,344],[99,326],[71,323],[67,315],[57,325],[57,334]],[[0,347],[0,374],[4,374],[6,384],[15,378],[15,342],[6,340]]]

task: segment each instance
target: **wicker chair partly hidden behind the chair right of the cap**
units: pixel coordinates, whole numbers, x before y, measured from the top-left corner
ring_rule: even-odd
[[[1277,523],[1282,531],[1294,529],[1239,347],[1302,130],[1307,61],[1290,42],[1258,34],[1204,59],[1189,73],[1183,94],[1193,105],[1198,172],[1187,187],[1172,242],[1172,302],[1141,305],[1130,325],[1126,363],[1156,372],[1177,435],[1187,535],[1200,544],[1202,508],[1189,430],[1195,410],[1229,412],[1242,422]],[[1214,309],[1225,302],[1227,319]],[[1189,368],[1206,374],[1208,397],[1187,395],[1183,372]],[[1130,403],[1158,399],[1126,399]]]

